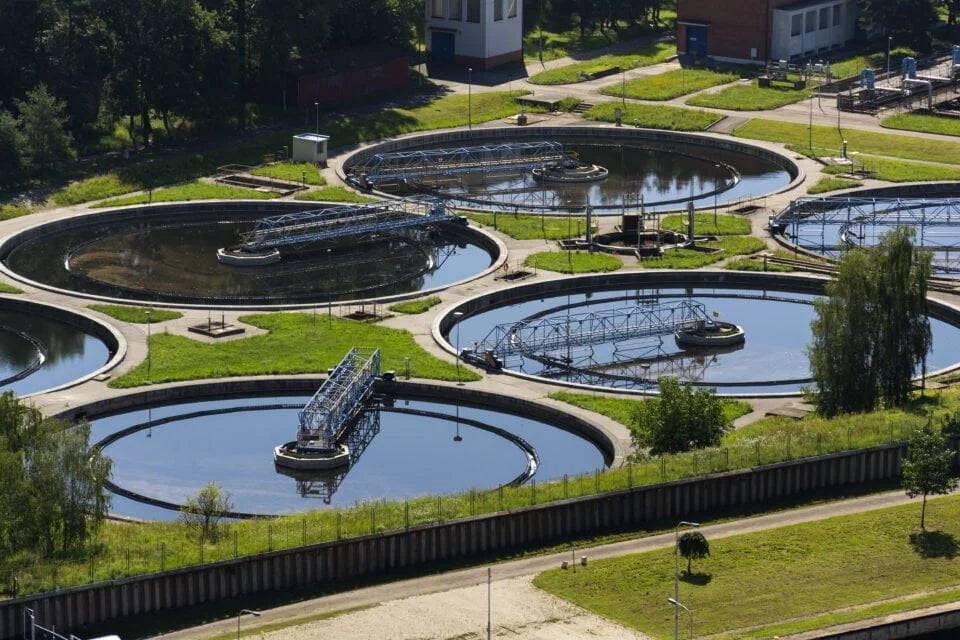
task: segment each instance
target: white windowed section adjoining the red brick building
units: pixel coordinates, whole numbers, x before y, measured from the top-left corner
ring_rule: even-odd
[[[857,29],[856,0],[806,0],[773,10],[772,58],[810,58],[839,49]]]

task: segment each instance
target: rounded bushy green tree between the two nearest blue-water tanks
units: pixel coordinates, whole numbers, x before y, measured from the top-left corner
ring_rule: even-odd
[[[660,378],[660,397],[640,403],[633,413],[633,439],[650,453],[678,453],[720,443],[730,428],[723,402],[709,389],[681,386],[676,378]]]

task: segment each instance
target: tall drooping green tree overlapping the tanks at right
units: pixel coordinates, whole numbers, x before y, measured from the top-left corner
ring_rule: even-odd
[[[930,254],[898,227],[869,250],[853,249],[838,265],[827,298],[815,301],[808,348],[821,413],[899,406],[930,351],[927,317]]]

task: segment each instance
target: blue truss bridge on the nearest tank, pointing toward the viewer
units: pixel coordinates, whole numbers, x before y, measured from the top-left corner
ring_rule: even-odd
[[[297,449],[336,451],[380,375],[379,349],[351,349],[300,412]]]

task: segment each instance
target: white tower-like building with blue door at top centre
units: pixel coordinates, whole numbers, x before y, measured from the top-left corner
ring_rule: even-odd
[[[522,0],[426,0],[431,60],[492,69],[523,60]]]

